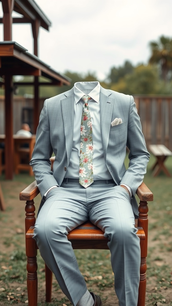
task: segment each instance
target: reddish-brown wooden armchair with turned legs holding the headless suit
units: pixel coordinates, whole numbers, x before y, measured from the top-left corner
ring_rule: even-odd
[[[146,257],[148,244],[148,203],[153,201],[153,194],[148,187],[142,183],[137,189],[139,203],[138,232],[140,238],[141,259],[140,259],[140,285],[138,306],[145,306],[146,295]],[[35,225],[35,206],[33,199],[39,194],[39,189],[34,181],[20,193],[20,200],[26,201],[26,256],[27,256],[27,289],[28,306],[37,306],[38,279],[37,279],[37,245],[32,239]],[[68,234],[73,249],[108,249],[108,239],[103,236],[102,230],[91,222],[86,222]],[[45,266],[46,278],[46,302],[51,301],[52,272]]]

